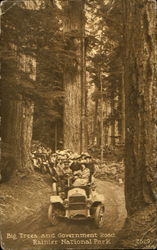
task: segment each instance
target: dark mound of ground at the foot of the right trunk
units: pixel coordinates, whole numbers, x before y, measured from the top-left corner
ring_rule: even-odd
[[[156,249],[156,225],[156,206],[149,205],[127,218],[116,245],[119,249]]]

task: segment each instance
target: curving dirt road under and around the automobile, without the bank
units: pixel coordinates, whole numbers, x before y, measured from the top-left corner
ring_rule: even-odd
[[[47,218],[47,208],[51,194],[49,190],[47,202],[35,214],[27,217],[20,223],[7,224],[5,229],[2,230],[3,243],[5,242],[3,248],[5,250],[55,249],[58,242],[60,244],[61,240],[64,239],[64,244],[61,246],[62,249],[76,249],[81,248],[79,241],[72,242],[72,244],[71,242],[69,244],[69,241],[67,241],[65,244],[65,239],[69,240],[69,235],[73,234],[71,239],[76,240],[74,234],[80,235],[82,233],[86,235],[90,234],[87,239],[83,239],[87,240],[87,245],[81,243],[84,248],[112,248],[116,239],[116,233],[122,228],[126,218],[123,187],[114,183],[97,180],[97,191],[103,194],[105,198],[106,211],[103,228],[96,229],[92,221],[71,221],[66,219],[61,219],[59,225],[55,227],[51,226]],[[60,236],[61,233],[66,235]],[[94,234],[96,235],[95,245],[93,239],[88,241],[90,236],[93,237]],[[52,242],[54,235],[57,243]]]

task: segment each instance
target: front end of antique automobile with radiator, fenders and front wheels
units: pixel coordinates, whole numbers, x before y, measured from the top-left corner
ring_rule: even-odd
[[[68,184],[64,195],[58,193],[50,196],[48,219],[52,225],[56,225],[59,217],[73,220],[90,218],[100,228],[104,224],[104,212],[104,196],[93,190],[93,184],[77,187]]]

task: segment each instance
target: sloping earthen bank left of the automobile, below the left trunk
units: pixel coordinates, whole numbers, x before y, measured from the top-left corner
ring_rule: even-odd
[[[47,176],[34,172],[0,184],[0,227],[18,223],[40,210],[49,201],[50,183]]]

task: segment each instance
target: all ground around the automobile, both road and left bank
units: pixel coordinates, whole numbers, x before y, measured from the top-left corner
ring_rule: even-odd
[[[99,242],[96,239],[95,245],[87,244],[82,245],[82,247],[86,249],[112,249],[117,241],[117,233],[123,227],[126,218],[124,188],[123,184],[118,185],[100,179],[96,179],[96,185],[97,191],[105,198],[105,224],[101,229],[95,229],[92,221],[66,219],[62,219],[55,227],[51,226],[47,218],[51,182],[46,175],[34,173],[1,184],[0,230],[2,248],[5,250],[48,250],[56,247],[57,249],[58,246],[55,245],[55,242],[52,243],[54,234],[60,243],[60,233],[96,233]],[[80,249],[81,245],[63,244],[60,248]]]

